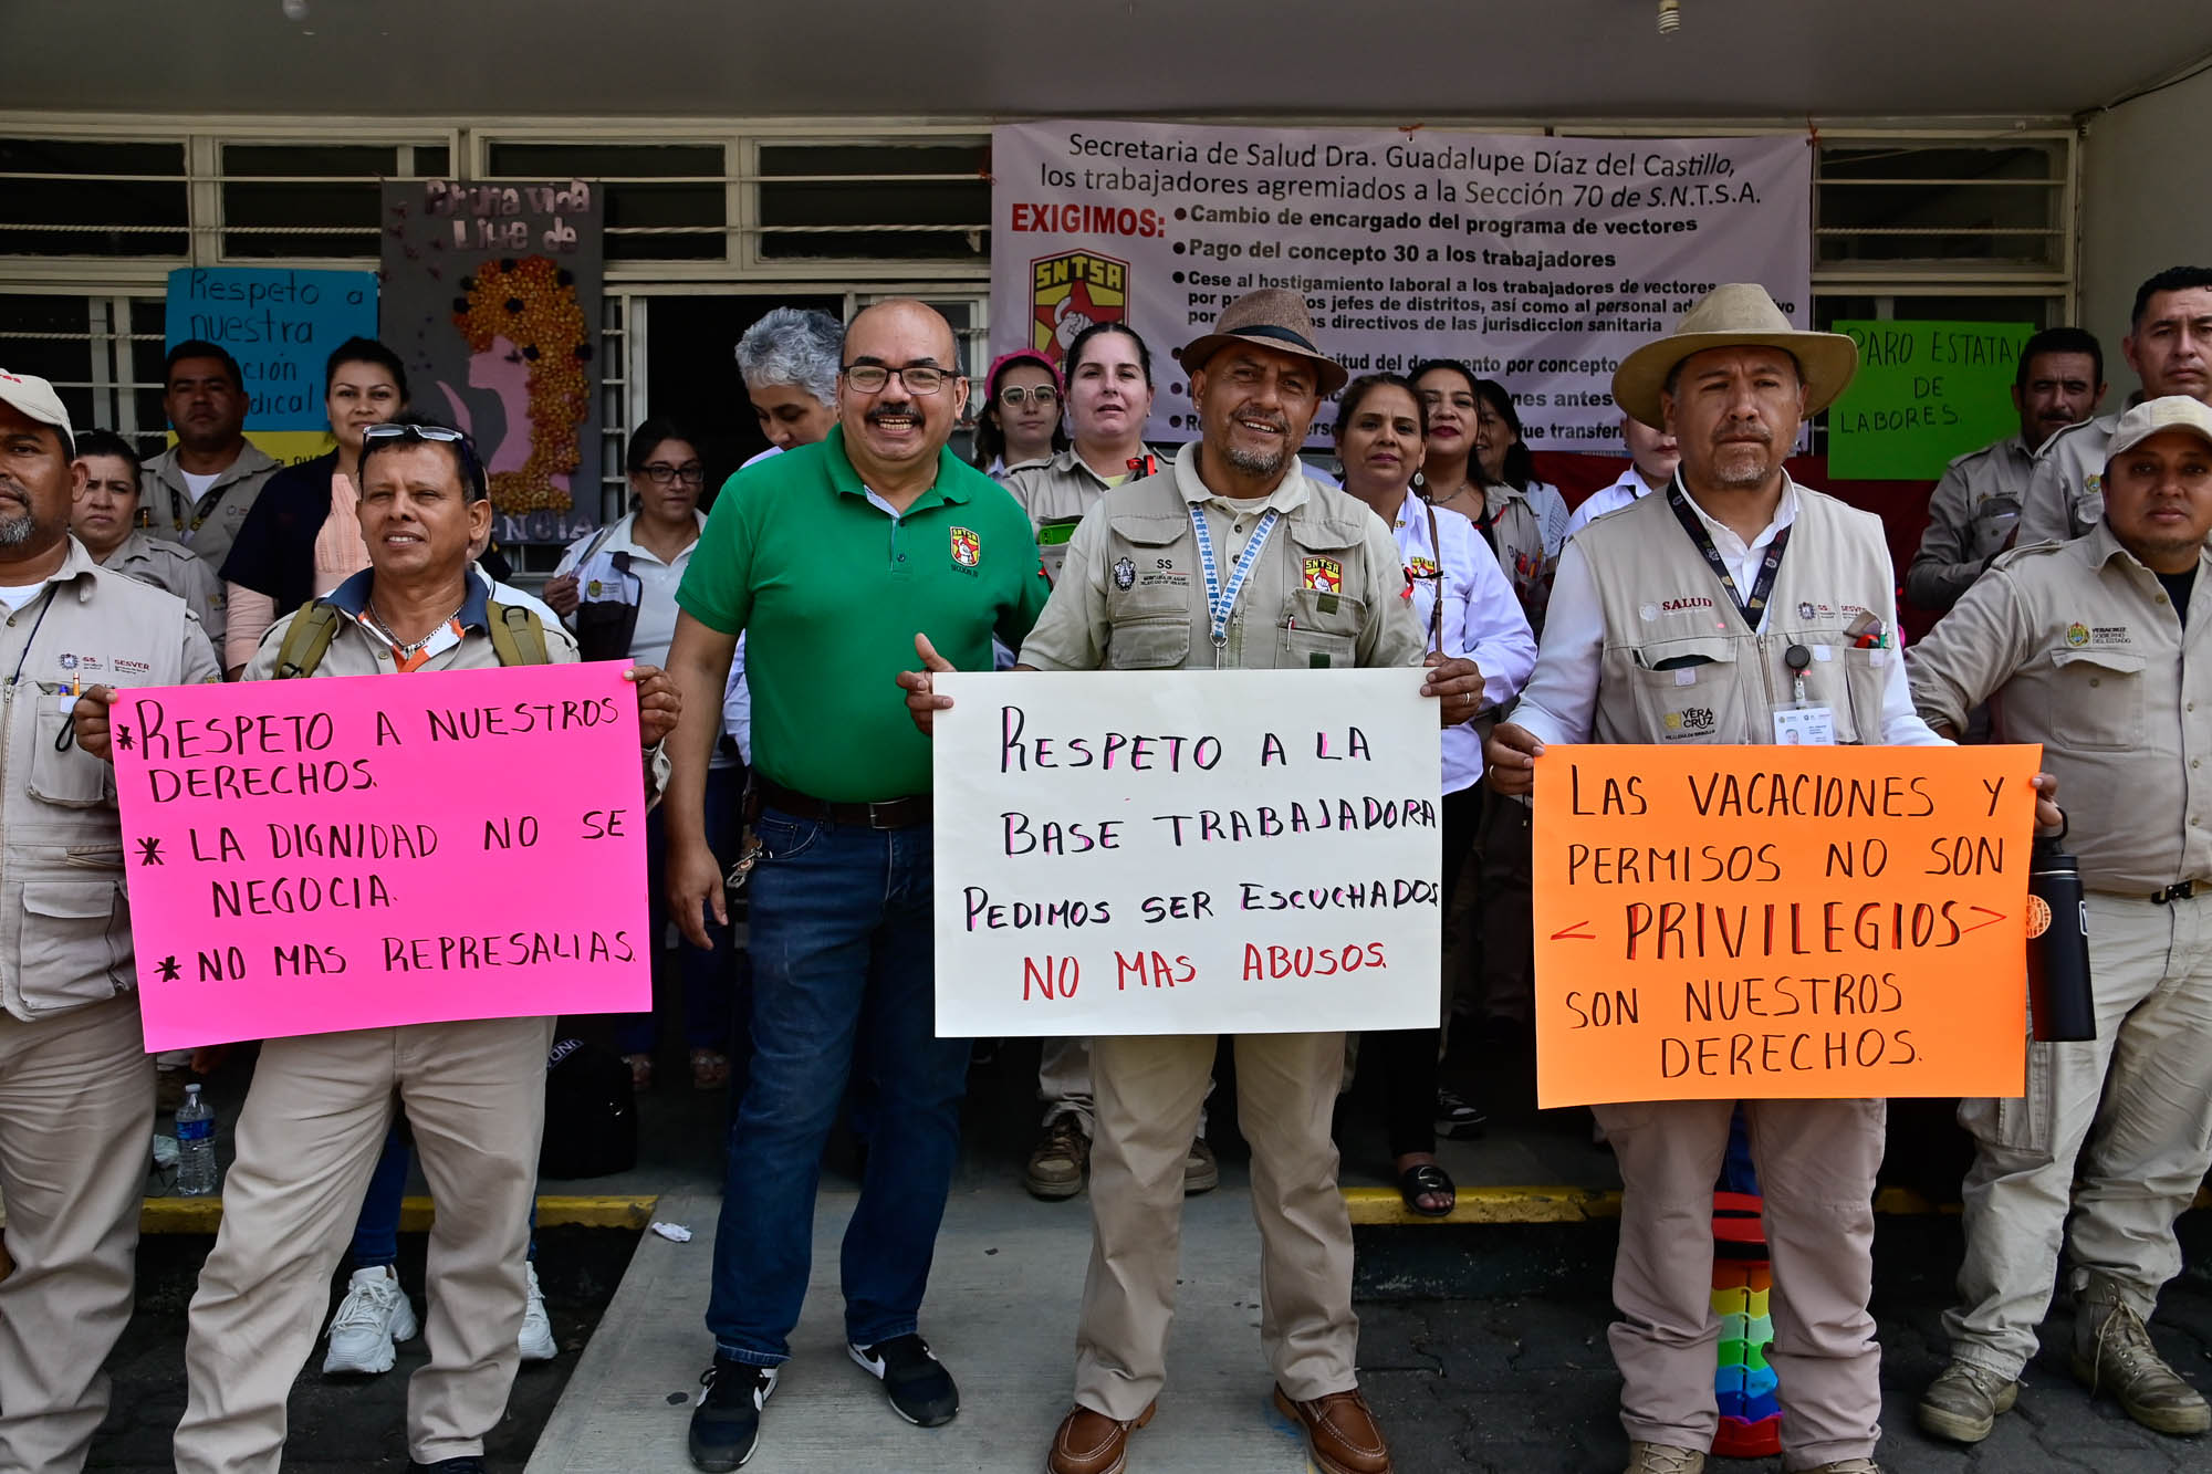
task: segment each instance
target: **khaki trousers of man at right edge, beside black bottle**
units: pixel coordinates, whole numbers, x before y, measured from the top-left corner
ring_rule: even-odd
[[[1944,1330],[1953,1357],[2000,1377],[2035,1354],[2062,1239],[2077,1290],[2097,1275],[2150,1319],[2212,1164],[2212,896],[2090,894],[2088,954],[2097,1038],[2031,1042],[2026,1096],[1958,1107],[1980,1149]]]

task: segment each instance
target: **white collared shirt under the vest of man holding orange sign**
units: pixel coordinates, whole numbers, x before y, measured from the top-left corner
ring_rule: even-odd
[[[1739,538],[1734,529],[1705,516],[1694,496],[1683,500],[1690,502],[1697,520],[1705,525],[1714,551],[1728,564],[1728,575],[1736,580],[1739,595],[1750,595],[1759,582],[1759,564],[1765,560],[1774,536],[1796,522],[1796,482],[1790,480],[1787,471],[1783,474],[1783,500],[1774,509],[1774,520],[1750,542]],[[1767,609],[1759,613],[1761,629],[1765,629],[1770,613]],[[1902,633],[1898,640],[1902,655]],[[1537,651],[1535,675],[1528,677],[1520,704],[1513,706],[1506,719],[1526,728],[1546,746],[1553,741],[1588,741],[1597,719],[1597,677],[1604,651],[1606,615],[1604,604],[1597,600],[1597,580],[1590,575],[1590,562],[1582,556],[1582,547],[1568,542],[1566,553],[1559,556],[1559,575],[1551,587],[1551,613],[1544,617],[1544,644]],[[1891,660],[1885,671],[1882,744],[1893,748],[1949,746],[1913,710],[1913,693],[1905,682],[1905,660]]]

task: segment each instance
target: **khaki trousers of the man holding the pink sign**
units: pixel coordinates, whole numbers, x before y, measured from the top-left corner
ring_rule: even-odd
[[[192,1295],[177,1470],[279,1467],[285,1397],[314,1350],[394,1093],[438,1204],[429,1366],[407,1383],[407,1454],[438,1463],[484,1452],[515,1381],[551,1045],[551,1018],[484,1018],[261,1047],[223,1228]]]

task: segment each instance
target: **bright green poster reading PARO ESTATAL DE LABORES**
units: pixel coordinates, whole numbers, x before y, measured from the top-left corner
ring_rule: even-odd
[[[1858,378],[1827,412],[1836,480],[1936,480],[1953,456],[2020,429],[2013,376],[2028,323],[1843,321]]]

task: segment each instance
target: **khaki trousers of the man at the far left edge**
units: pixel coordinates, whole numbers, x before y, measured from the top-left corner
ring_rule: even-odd
[[[137,998],[0,1016],[0,1470],[75,1474],[131,1321],[153,1060]]]

